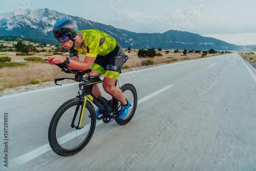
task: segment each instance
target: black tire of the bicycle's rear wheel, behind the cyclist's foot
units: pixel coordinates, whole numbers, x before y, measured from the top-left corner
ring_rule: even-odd
[[[125,119],[119,119],[118,117],[115,117],[115,120],[119,125],[125,125],[132,120],[132,118],[135,114],[135,111],[137,108],[137,103],[138,103],[138,96],[137,96],[137,91],[136,91],[135,87],[131,83],[124,84],[120,89],[122,90],[122,92],[125,92],[126,90],[130,90],[134,96],[133,109],[132,109],[130,116]],[[115,109],[117,109],[117,108],[118,108],[118,100],[116,100],[116,102],[115,102]]]

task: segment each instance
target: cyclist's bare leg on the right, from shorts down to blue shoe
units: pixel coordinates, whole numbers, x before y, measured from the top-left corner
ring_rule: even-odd
[[[123,92],[115,87],[115,82],[117,79],[115,78],[108,78],[108,77],[104,77],[103,80],[103,89],[106,93],[110,94],[112,97],[114,97],[115,99],[117,99],[118,101],[121,102],[122,105],[127,104]]]

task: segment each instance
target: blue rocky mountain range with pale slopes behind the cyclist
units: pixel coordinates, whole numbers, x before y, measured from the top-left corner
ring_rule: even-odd
[[[123,48],[158,49],[161,47],[162,49],[231,51],[253,47],[228,44],[216,38],[203,37],[198,34],[177,30],[169,30],[164,33],[135,33],[46,8],[0,13],[0,36],[15,35],[44,41],[48,44],[56,44],[52,29],[57,20],[62,18],[73,20],[79,30],[101,30],[114,37]]]

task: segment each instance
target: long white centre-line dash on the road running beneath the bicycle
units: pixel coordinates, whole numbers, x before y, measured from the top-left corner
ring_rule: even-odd
[[[162,89],[160,89],[160,90],[158,90],[158,91],[156,91],[156,92],[154,92],[150,95],[147,95],[147,96],[143,97],[142,99],[139,99],[137,104],[139,105],[140,103],[143,103],[144,101],[146,101],[148,99],[151,99],[152,97],[154,97],[154,96],[156,96],[156,95],[158,95],[158,94],[160,94],[160,93],[162,93],[162,92],[164,92],[164,91],[166,91],[166,90],[168,90],[169,88],[172,88],[172,87],[173,87],[172,85],[169,85],[169,86],[166,86],[166,87],[164,87],[164,88],[162,88]],[[100,120],[100,121],[97,120],[96,126],[98,126],[102,123],[103,123],[102,120]],[[76,134],[76,136],[89,131],[89,129],[90,129],[89,125],[84,126],[84,128],[82,130],[80,130],[81,132],[79,132],[79,134]],[[71,134],[67,134],[63,137],[60,137],[58,140],[60,140],[60,142],[62,144],[62,143],[65,143],[65,142],[67,142],[67,141],[69,141],[73,138],[75,138],[75,136],[73,136],[73,135],[71,136]],[[15,166],[22,165],[22,164],[38,157],[38,156],[50,151],[51,149],[52,148],[50,147],[49,144],[45,144],[45,145],[43,145],[41,147],[38,147],[38,148],[34,149],[33,151],[23,155],[23,156],[20,156],[16,159],[12,160],[12,163]]]

